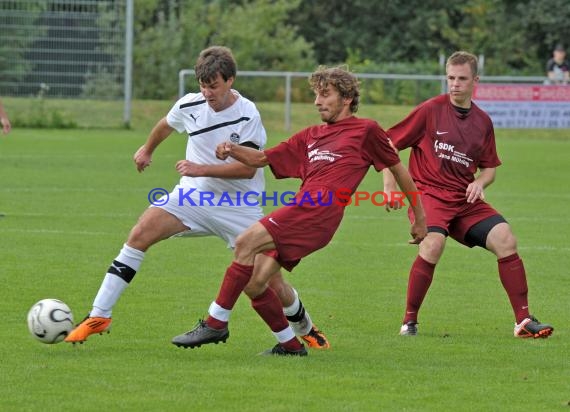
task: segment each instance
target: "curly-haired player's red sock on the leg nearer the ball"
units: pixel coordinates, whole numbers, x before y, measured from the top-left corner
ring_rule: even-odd
[[[226,270],[216,303],[224,309],[232,310],[245,285],[249,282],[252,273],[253,266],[242,265],[235,261],[232,262]],[[226,327],[227,322],[208,316],[206,324],[214,329],[223,329]]]

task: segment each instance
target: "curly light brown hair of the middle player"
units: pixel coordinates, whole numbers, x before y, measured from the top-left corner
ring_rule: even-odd
[[[319,66],[309,78],[309,84],[315,91],[322,91],[328,85],[333,86],[343,99],[352,99],[350,103],[351,113],[358,111],[360,101],[360,82],[356,76],[342,66],[326,67]]]

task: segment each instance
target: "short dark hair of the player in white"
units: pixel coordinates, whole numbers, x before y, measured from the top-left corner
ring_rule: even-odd
[[[196,79],[200,83],[210,83],[218,73],[224,81],[236,77],[237,63],[232,51],[224,46],[212,46],[202,50],[194,66]]]

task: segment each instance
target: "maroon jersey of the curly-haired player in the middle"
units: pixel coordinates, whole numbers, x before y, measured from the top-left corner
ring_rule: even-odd
[[[348,189],[352,194],[372,165],[377,171],[400,162],[386,132],[373,120],[354,116],[308,127],[265,150],[275,177],[303,180],[301,191]]]

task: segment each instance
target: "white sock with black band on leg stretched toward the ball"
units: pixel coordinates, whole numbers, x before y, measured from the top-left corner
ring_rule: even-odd
[[[127,281],[117,274],[107,272],[101,286],[99,287],[97,296],[95,296],[93,308],[91,309],[89,316],[100,318],[111,317],[113,306],[115,306],[124,290],[129,285],[130,280],[140,268],[143,259],[144,252],[127,246],[127,244],[123,245],[119,255],[113,261],[109,269],[114,268],[114,270],[118,270],[120,273],[128,270],[130,272],[129,280]],[[128,268],[124,266],[128,266]]]

